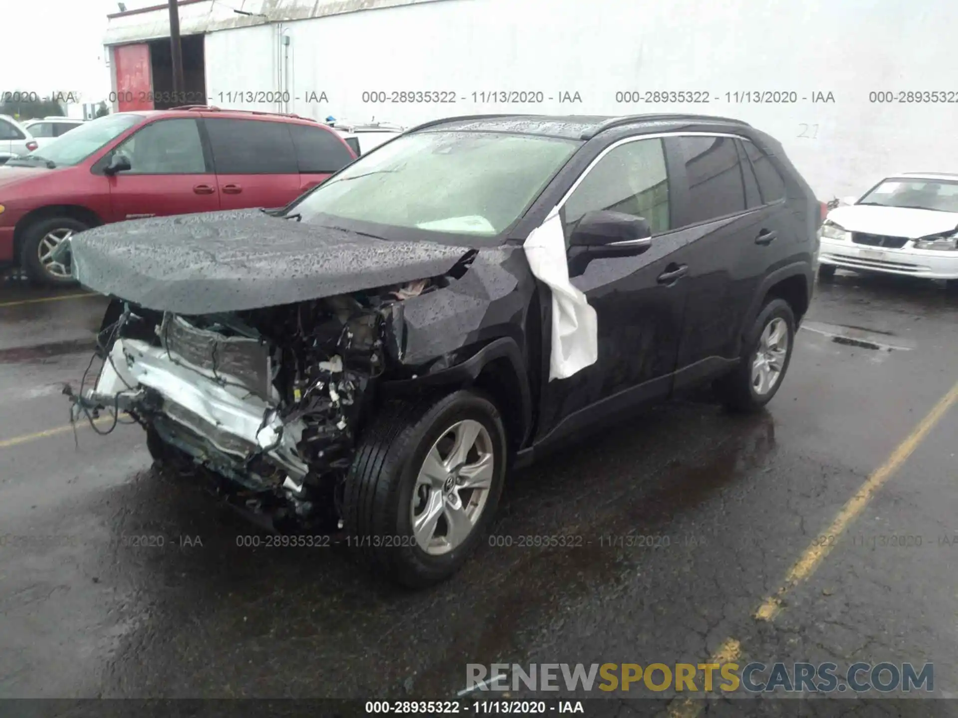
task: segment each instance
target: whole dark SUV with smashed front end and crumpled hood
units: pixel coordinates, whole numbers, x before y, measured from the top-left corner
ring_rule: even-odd
[[[701,382],[764,406],[820,217],[734,120],[426,123],[281,210],[75,236],[75,277],[114,302],[74,412],[125,412],[176,473],[425,586],[509,468]]]

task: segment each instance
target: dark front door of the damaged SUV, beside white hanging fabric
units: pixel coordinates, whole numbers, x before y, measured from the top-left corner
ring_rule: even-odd
[[[613,146],[586,170],[560,211],[566,242],[582,215],[597,210],[645,217],[652,240],[641,255],[593,259],[580,276],[570,277],[596,310],[598,361],[545,385],[539,438],[553,429],[564,434],[671,391],[688,267],[673,257],[685,240],[672,229],[666,167],[660,139]]]

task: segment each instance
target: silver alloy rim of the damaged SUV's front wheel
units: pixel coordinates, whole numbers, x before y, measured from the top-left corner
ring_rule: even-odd
[[[441,555],[460,546],[482,515],[492,486],[495,452],[486,427],[458,421],[422,461],[410,505],[420,549]]]

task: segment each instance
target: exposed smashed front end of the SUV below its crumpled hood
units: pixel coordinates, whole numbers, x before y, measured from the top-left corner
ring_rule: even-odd
[[[334,530],[377,380],[414,375],[401,363],[401,303],[449,279],[201,316],[120,303],[95,387],[65,393],[75,419],[133,417],[154,458],[160,442],[225,478],[246,509],[279,500],[283,518]]]

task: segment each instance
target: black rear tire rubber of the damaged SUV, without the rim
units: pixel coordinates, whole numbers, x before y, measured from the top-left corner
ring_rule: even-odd
[[[785,321],[788,332],[788,346],[781,374],[770,391],[758,393],[752,381],[752,361],[759,348],[765,326],[775,319]],[[738,413],[752,413],[760,410],[772,400],[785,381],[788,365],[791,362],[791,353],[795,347],[795,315],[791,306],[783,299],[772,299],[764,304],[759,316],[745,334],[742,342],[741,358],[738,366],[731,373],[723,376],[716,382],[716,393],[727,409]]]

